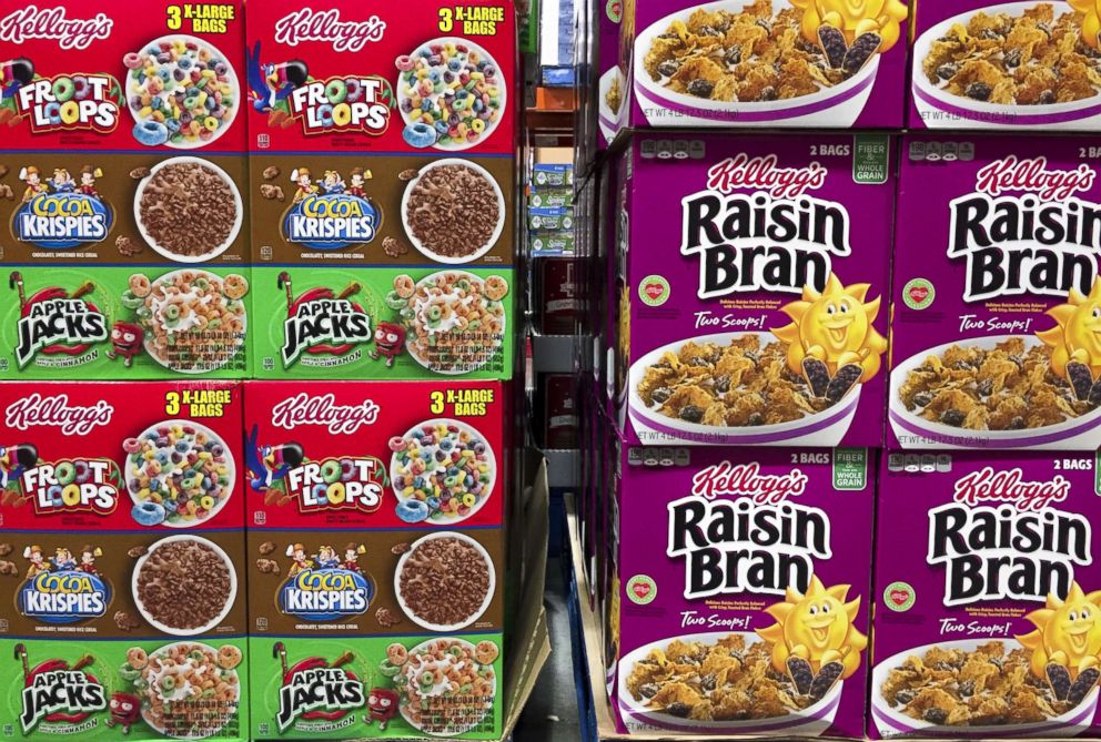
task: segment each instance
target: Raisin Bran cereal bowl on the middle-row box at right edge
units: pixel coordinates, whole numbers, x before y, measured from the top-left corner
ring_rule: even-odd
[[[991,335],[899,363],[888,417],[902,448],[1074,448],[1101,435],[1091,392],[1053,373],[1038,337]]]

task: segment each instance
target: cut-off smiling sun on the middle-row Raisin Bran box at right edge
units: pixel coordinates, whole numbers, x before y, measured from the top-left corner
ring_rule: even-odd
[[[1051,347],[1051,370],[1070,382],[1079,399],[1101,402],[1101,277],[1090,294],[1071,288],[1067,304],[1048,309],[1055,326],[1036,334]]]

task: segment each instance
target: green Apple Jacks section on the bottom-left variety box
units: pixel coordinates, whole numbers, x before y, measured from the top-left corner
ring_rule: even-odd
[[[0,725],[8,739],[249,739],[243,637],[0,637]],[[211,692],[184,695],[199,687]]]

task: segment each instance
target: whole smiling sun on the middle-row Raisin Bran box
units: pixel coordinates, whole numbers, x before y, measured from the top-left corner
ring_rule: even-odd
[[[830,274],[821,293],[804,286],[801,301],[780,308],[792,322],[772,334],[788,346],[788,368],[805,376],[818,397],[837,402],[879,373],[887,338],[872,326],[880,297],[865,302],[870,287],[846,286]]]

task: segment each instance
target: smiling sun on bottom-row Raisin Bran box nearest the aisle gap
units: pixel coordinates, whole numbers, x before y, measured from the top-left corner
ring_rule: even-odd
[[[784,602],[765,609],[776,623],[757,636],[772,646],[772,668],[790,674],[800,693],[820,698],[860,667],[868,638],[852,626],[860,598],[846,602],[848,594],[848,585],[827,588],[812,576],[806,593],[789,587]]]

